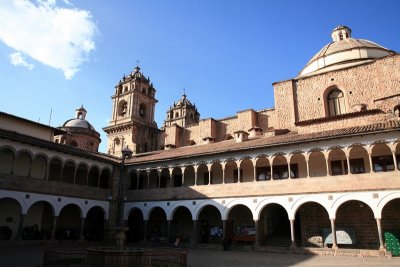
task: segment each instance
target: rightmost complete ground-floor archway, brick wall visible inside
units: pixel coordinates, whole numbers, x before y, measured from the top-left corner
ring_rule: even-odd
[[[376,220],[371,208],[364,202],[351,200],[343,203],[336,211],[335,225],[339,247],[379,248]],[[343,234],[338,235],[341,231]]]

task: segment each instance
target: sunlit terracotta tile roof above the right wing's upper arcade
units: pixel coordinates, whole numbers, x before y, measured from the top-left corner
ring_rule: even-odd
[[[288,133],[285,135],[261,137],[250,139],[242,143],[235,143],[234,140],[227,140],[206,145],[185,146],[171,150],[159,150],[149,153],[134,155],[127,160],[129,164],[142,164],[146,162],[165,161],[171,159],[188,158],[193,156],[211,155],[238,150],[248,150],[263,147],[273,147],[293,143],[310,142],[337,137],[367,134],[380,131],[400,130],[400,121],[388,121],[366,126],[356,126],[344,129],[336,129],[324,132],[309,134]]]

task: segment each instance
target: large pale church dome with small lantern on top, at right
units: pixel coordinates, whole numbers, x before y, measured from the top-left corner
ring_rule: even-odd
[[[341,69],[395,54],[369,40],[352,38],[351,29],[347,26],[333,29],[331,37],[333,41],[311,58],[299,76]]]

